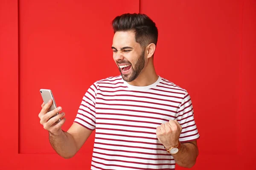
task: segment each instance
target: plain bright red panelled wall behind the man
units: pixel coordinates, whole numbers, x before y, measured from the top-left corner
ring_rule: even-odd
[[[94,133],[72,159],[58,156],[39,123],[39,89],[52,90],[67,130],[87,88],[119,75],[111,20],[127,12],[154,20],[157,74],[192,97],[192,169],[253,169],[255,10],[254,0],[0,0],[0,170],[90,169]]]

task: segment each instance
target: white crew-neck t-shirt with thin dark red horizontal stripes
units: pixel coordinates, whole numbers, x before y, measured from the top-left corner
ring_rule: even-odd
[[[174,170],[156,135],[170,119],[183,128],[181,143],[199,138],[186,90],[160,76],[152,85],[132,86],[120,75],[90,86],[74,122],[96,130],[92,170]]]

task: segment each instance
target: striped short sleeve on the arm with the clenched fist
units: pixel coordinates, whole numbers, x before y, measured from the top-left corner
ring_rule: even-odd
[[[177,122],[182,127],[180,142],[189,142],[199,138],[198,129],[194,119],[192,101],[187,92],[178,109]]]

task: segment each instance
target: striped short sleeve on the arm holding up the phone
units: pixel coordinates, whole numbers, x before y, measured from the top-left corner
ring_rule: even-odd
[[[96,103],[97,85],[93,83],[87,92],[84,94],[81,105],[79,106],[78,113],[74,120],[75,123],[89,129],[95,130],[96,127]]]

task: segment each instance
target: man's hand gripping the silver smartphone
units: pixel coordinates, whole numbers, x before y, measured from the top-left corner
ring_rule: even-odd
[[[65,113],[62,112],[62,113],[58,114],[57,116],[54,116],[57,113],[59,113],[62,110],[62,108],[58,107],[52,111],[47,112],[51,105],[52,105],[52,99],[50,99],[49,102],[47,102],[46,104],[43,103],[41,105],[42,110],[38,114],[38,117],[40,118],[40,124],[43,125],[44,129],[48,130],[49,133],[52,133],[53,135],[60,135],[62,132],[61,126],[65,122],[65,118],[63,118]],[[63,119],[61,119],[61,118],[63,118]],[[59,119],[61,119],[60,122],[58,122]]]

